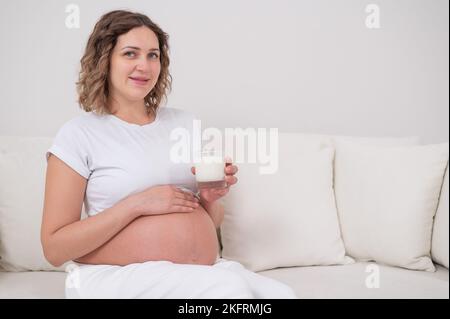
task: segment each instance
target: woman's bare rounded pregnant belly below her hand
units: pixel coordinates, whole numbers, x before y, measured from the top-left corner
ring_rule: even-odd
[[[191,213],[141,216],[90,254],[86,264],[128,265],[151,260],[180,264],[214,264],[217,233],[203,207]]]

